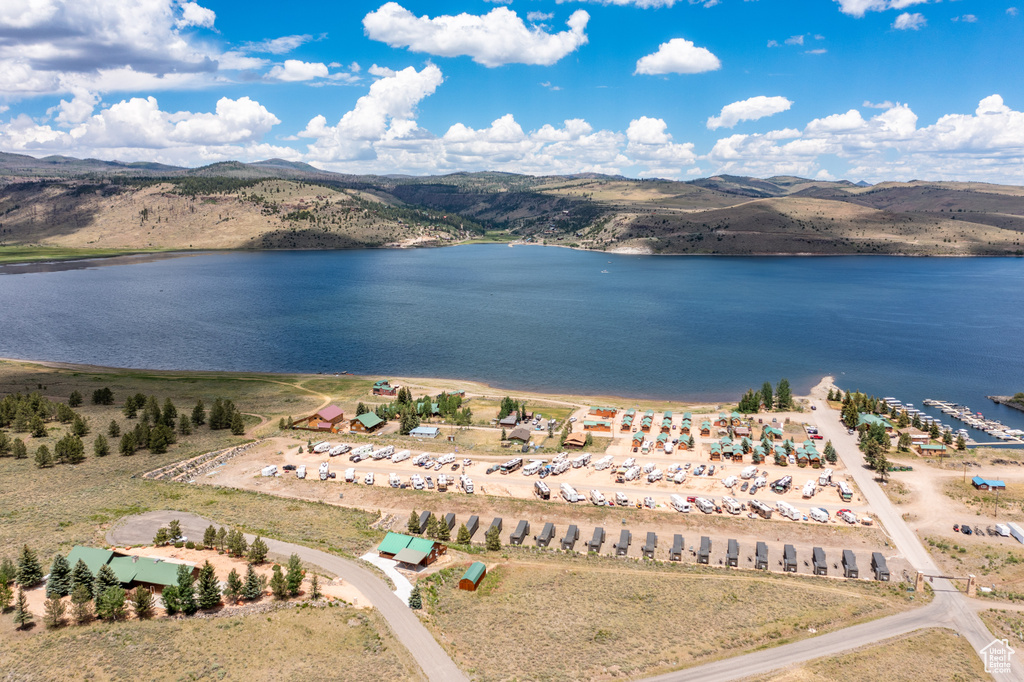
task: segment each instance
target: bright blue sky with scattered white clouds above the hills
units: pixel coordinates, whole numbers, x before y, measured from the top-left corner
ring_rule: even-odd
[[[359,173],[1024,184],[1021,10],[5,0],[0,150]]]

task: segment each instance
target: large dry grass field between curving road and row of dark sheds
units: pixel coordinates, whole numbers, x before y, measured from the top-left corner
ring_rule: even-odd
[[[420,583],[428,627],[480,682],[652,675],[920,603],[879,583],[512,554],[476,592],[458,589],[466,564]]]

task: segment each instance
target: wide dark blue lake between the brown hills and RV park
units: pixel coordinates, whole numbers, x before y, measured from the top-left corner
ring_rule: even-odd
[[[780,377],[801,392],[830,374],[1024,427],[984,398],[1024,390],[1022,259],[469,246],[24,269],[0,276],[3,356],[672,399],[735,399]]]

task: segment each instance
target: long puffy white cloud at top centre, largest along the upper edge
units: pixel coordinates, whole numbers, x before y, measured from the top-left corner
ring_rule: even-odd
[[[388,2],[367,14],[362,27],[368,37],[391,47],[435,56],[470,56],[484,67],[506,63],[551,66],[587,44],[585,32],[590,14],[578,9],[569,16],[567,31],[549,34],[541,27],[528,28],[506,7],[496,7],[482,16],[416,16],[396,2]]]

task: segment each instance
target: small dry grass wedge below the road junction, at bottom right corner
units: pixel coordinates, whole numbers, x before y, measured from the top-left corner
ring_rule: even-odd
[[[981,658],[949,630],[915,632],[878,646],[819,658],[751,682],[969,682],[990,680]]]

